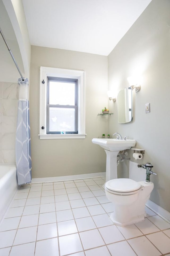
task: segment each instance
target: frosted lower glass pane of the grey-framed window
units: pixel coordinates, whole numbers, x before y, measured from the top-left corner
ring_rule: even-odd
[[[49,131],[75,131],[75,109],[49,107]]]

